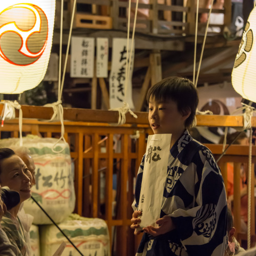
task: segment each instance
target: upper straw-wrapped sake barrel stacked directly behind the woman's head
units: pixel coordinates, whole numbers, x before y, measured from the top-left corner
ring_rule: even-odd
[[[58,142],[54,150],[55,138],[28,136],[23,138],[23,146],[27,147],[34,160],[36,185],[32,187],[33,198],[48,212],[56,222],[65,220],[74,210],[75,191],[71,169],[69,144]],[[19,139],[0,140],[0,147],[18,146]],[[33,224],[51,224],[49,218],[30,198],[25,201],[24,209],[34,217]]]

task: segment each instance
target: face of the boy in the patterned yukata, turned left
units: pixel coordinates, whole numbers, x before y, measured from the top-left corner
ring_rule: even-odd
[[[178,111],[175,101],[157,102],[152,96],[150,97],[148,121],[154,134],[182,133],[187,117]]]

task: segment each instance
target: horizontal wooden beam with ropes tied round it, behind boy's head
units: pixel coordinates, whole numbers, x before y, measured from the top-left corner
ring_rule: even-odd
[[[0,105],[0,112],[3,111],[4,105]],[[53,109],[48,106],[28,106],[22,105],[23,118],[30,119],[51,119]],[[118,111],[108,110],[89,110],[89,109],[69,109],[63,108],[64,120],[98,122],[98,123],[117,123]],[[134,112],[138,118],[134,118],[130,113],[126,114],[126,124],[148,124],[147,112]],[[18,117],[18,110],[15,111]],[[209,127],[243,127],[243,116],[219,116],[219,115],[197,115],[198,126]],[[256,117],[251,118],[252,127],[256,127]]]

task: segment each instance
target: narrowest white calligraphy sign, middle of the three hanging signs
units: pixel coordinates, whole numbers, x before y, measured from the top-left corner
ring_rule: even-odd
[[[109,39],[97,37],[97,77],[108,77]]]

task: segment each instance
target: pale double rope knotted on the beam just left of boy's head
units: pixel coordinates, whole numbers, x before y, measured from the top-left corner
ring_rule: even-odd
[[[131,42],[131,50],[130,55],[130,21],[131,21],[131,0],[129,0],[129,11],[128,11],[128,28],[127,28],[127,44],[126,44],[126,66],[125,66],[125,81],[124,81],[124,100],[123,106],[121,108],[110,109],[112,111],[118,111],[119,118],[117,124],[112,124],[114,126],[122,125],[126,121],[126,113],[129,112],[134,118],[138,118],[136,114],[130,109],[129,104],[126,102],[126,92],[127,92],[127,83],[130,80],[130,71],[131,71],[131,62],[132,62],[132,49],[134,45],[134,35],[135,35],[135,27],[136,27],[136,20],[137,20],[137,12],[138,12],[138,3],[139,0],[136,1],[136,8],[135,8],[135,16],[134,16],[134,24],[133,24],[133,35],[132,35],[132,42]]]

